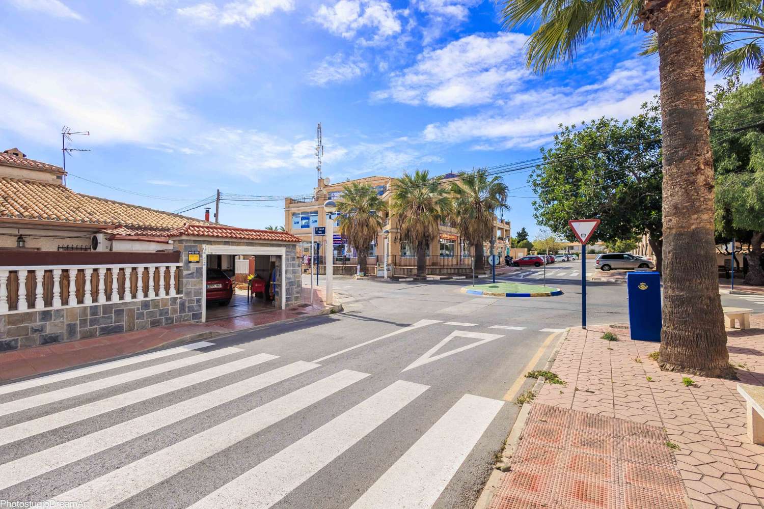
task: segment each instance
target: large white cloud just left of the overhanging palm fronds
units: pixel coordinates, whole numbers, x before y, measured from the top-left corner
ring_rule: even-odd
[[[426,50],[416,65],[393,73],[375,99],[450,108],[486,104],[528,76],[523,34],[469,35],[440,50]]]

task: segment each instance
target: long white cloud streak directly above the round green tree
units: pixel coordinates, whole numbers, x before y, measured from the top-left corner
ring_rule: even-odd
[[[558,125],[595,118],[628,118],[658,90],[658,69],[643,58],[622,62],[594,85],[528,90],[507,98],[499,113],[474,114],[445,124],[429,124],[422,135],[430,142],[474,141],[474,150],[538,147]]]

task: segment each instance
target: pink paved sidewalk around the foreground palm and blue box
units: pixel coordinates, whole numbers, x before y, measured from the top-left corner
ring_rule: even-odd
[[[510,471],[494,477],[491,509],[674,509],[688,500],[760,509],[764,447],[746,437],[736,384],[764,385],[764,314],[751,327],[727,330],[740,381],[696,376],[691,387],[649,359],[659,343],[621,328],[569,330],[550,369],[566,384],[545,383],[530,404]],[[619,339],[601,339],[605,331]]]

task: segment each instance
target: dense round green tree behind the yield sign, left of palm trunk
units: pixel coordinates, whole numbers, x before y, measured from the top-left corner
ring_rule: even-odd
[[[656,104],[643,110],[626,121],[600,118],[564,127],[554,146],[542,150],[543,162],[529,182],[539,197],[533,201],[539,224],[571,242],[570,219],[601,220],[591,242],[647,233],[661,270],[660,118]]]

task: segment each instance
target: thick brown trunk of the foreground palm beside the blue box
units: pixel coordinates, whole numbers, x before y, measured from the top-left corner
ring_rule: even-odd
[[[714,166],[706,113],[703,2],[653,13],[663,134],[663,328],[666,371],[734,378],[714,250]]]

